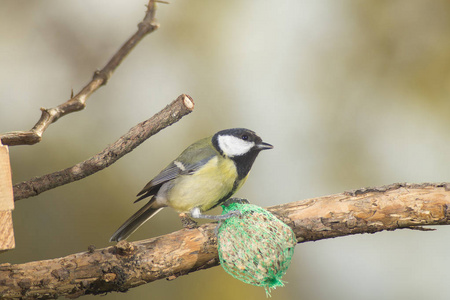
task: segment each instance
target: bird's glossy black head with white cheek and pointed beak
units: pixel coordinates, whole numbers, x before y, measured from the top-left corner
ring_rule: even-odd
[[[260,151],[273,148],[254,131],[245,128],[219,131],[212,137],[212,143],[221,155],[235,162],[240,178],[247,176]]]

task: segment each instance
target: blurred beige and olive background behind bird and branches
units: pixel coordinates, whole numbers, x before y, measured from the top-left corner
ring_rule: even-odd
[[[2,1],[0,131],[77,93],[136,30],[146,1]],[[230,127],[275,145],[237,196],[270,206],[450,177],[450,2],[180,1],[87,108],[43,141],[10,148],[13,181],[83,161],[181,93],[192,114],[106,170],[14,211],[23,263],[106,247],[135,194],[193,141]],[[181,228],[166,209],[130,240]],[[448,299],[450,228],[355,235],[296,247],[272,299]],[[264,299],[220,267],[102,299]],[[81,298],[80,298],[81,299]],[[98,299],[87,296],[83,299]]]

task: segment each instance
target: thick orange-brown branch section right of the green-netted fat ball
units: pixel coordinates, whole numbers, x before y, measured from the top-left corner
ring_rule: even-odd
[[[396,183],[273,206],[299,242],[450,224],[450,184]]]

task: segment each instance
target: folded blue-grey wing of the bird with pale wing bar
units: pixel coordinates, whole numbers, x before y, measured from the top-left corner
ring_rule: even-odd
[[[214,157],[214,154],[209,155],[193,164],[182,164],[181,162],[175,160],[144,186],[144,188],[137,194],[139,198],[134,202],[138,202],[144,198],[156,195],[164,183],[169,182],[180,175],[190,175],[195,173],[195,171],[207,163],[212,157]]]

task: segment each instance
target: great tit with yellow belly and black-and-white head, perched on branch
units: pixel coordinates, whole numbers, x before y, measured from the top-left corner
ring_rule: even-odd
[[[202,214],[230,198],[244,184],[261,150],[272,149],[255,132],[226,129],[190,145],[137,194],[150,201],[112,235],[126,239],[162,208],[170,206],[193,218],[222,219]]]

